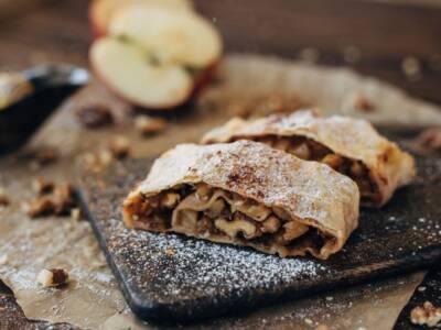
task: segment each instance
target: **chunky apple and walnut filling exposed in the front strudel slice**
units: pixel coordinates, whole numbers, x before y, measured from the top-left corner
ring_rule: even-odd
[[[140,195],[128,209],[138,229],[260,246],[281,256],[320,251],[324,244],[324,234],[283,209],[206,184],[182,185],[151,197]]]

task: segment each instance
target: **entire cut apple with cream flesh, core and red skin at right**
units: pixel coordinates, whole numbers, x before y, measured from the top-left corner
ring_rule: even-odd
[[[222,55],[213,24],[191,11],[128,6],[90,48],[98,78],[142,108],[175,108],[200,91]]]

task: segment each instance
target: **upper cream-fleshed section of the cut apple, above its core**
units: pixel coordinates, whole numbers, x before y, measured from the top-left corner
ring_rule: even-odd
[[[222,53],[218,31],[191,11],[126,7],[115,14],[109,32],[141,44],[162,62],[179,63],[193,69],[212,65]]]

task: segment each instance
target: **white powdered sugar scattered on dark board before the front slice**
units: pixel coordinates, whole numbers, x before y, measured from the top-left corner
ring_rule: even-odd
[[[325,266],[311,260],[280,258],[174,234],[128,230],[121,221],[110,222],[118,231],[118,237],[109,239],[111,253],[117,260],[136,261],[137,270],[130,270],[130,273],[138,278],[131,280],[146,286],[144,289],[151,285],[161,287],[161,300],[174,299],[176,295],[184,300],[185,297],[240,296],[295,278],[313,277],[319,270],[325,270]],[[166,253],[170,250],[172,255]],[[150,273],[152,264],[157,270]],[[150,280],[146,280],[147,277]]]

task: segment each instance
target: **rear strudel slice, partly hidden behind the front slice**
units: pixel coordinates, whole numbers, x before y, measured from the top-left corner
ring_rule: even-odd
[[[330,165],[357,183],[364,206],[385,205],[416,175],[411,155],[379,135],[367,121],[348,117],[321,118],[302,110],[250,121],[236,118],[205,134],[202,143],[237,140],[262,142]]]

